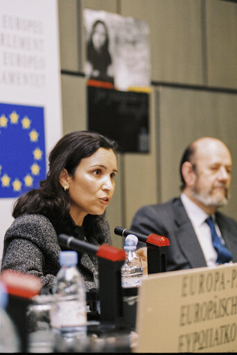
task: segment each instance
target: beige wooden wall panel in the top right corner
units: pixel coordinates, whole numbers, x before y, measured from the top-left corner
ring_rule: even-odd
[[[237,88],[237,3],[206,1],[208,85]]]

